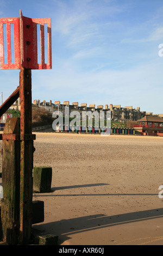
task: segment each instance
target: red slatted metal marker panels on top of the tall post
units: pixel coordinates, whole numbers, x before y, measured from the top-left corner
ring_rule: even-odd
[[[4,63],[4,26],[7,27],[7,63]],[[11,24],[14,25],[14,56],[15,63],[11,63]],[[48,63],[45,63],[45,35],[44,27],[47,24],[47,52]],[[37,35],[37,25],[40,25],[40,34]],[[37,40],[40,39],[41,51],[37,52]],[[41,54],[41,63],[37,55]],[[1,69],[52,69],[52,37],[51,19],[31,19],[24,17],[20,10],[20,18],[0,18],[0,57]]]

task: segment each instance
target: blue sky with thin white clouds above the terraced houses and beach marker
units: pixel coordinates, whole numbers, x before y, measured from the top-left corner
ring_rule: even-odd
[[[32,70],[32,100],[163,113],[162,0],[0,0],[0,17],[19,17],[20,9],[52,19],[52,70]],[[19,70],[0,77],[4,101]]]

